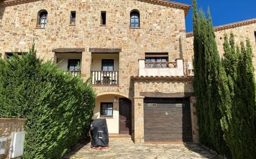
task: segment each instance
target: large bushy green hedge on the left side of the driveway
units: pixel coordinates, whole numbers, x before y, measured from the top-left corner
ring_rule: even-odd
[[[23,158],[60,158],[85,137],[96,95],[88,82],[37,58],[34,48],[0,59],[0,116],[27,119]]]

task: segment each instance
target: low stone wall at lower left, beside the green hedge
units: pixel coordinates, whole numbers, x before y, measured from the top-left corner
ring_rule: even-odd
[[[11,144],[12,132],[24,131],[25,119],[5,119],[0,118],[0,137],[7,137],[6,155],[0,155],[0,158],[9,158],[9,147]]]

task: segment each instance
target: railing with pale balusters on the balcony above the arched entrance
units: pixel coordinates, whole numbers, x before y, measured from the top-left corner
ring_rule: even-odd
[[[93,85],[118,85],[119,71],[91,71]]]

